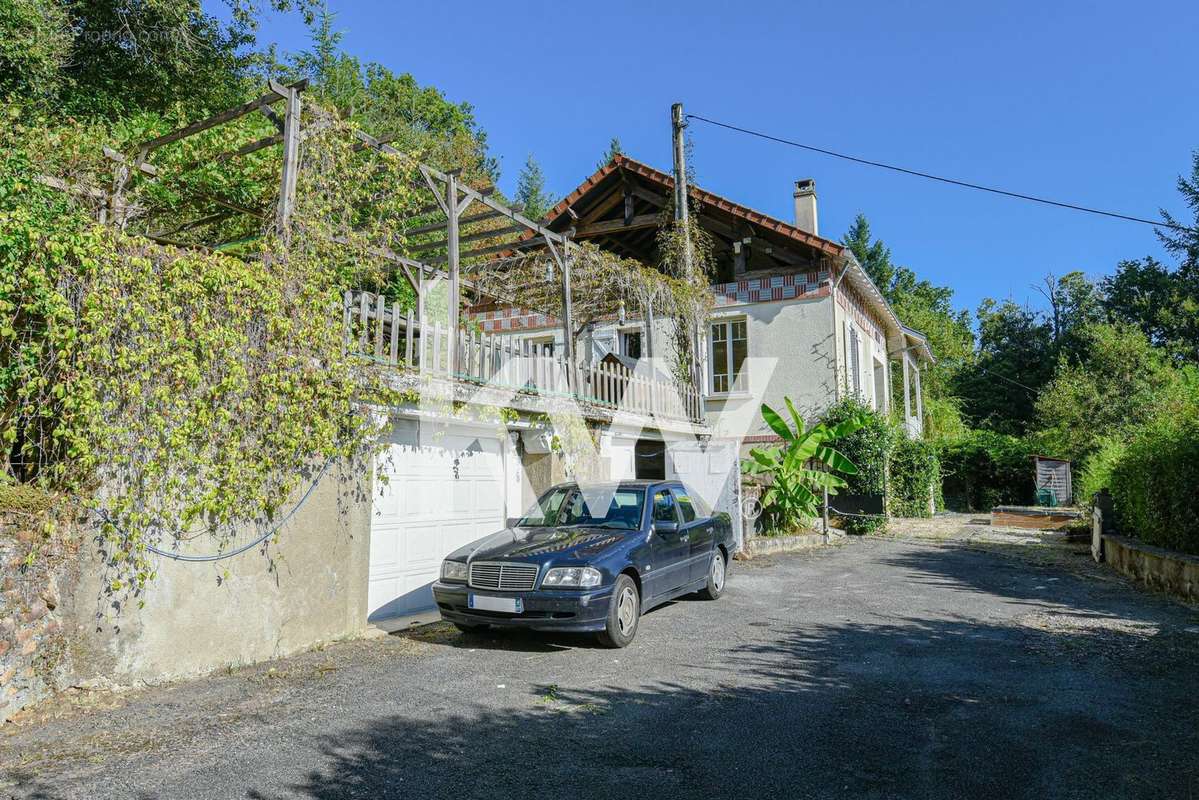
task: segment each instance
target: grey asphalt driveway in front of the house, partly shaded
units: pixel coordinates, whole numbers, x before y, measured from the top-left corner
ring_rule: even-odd
[[[435,627],[77,697],[0,729],[0,796],[1199,798],[1199,613],[1068,566],[856,540],[627,650]]]

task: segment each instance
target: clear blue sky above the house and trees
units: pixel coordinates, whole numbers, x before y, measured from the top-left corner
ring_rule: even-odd
[[[1157,218],[1199,149],[1199,4],[351,2],[344,47],[469,101],[511,192],[528,154],[561,196],[608,140],[670,167],[669,107],[876,161]],[[295,17],[263,42],[306,44]],[[1048,271],[1162,255],[1146,225],[940,186],[691,130],[699,184],[790,219],[815,178],[820,233],[864,212],[896,260],[984,296],[1040,305]],[[1183,218],[1186,218],[1183,216]]]

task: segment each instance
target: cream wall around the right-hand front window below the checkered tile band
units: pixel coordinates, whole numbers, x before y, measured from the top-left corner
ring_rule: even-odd
[[[709,422],[716,427],[716,435],[736,437],[737,425],[747,427],[749,437],[769,434],[759,407],[766,403],[784,413],[784,396],[809,419],[836,402],[837,354],[830,297],[725,306],[712,314],[713,320],[737,317],[747,321],[749,359],[775,360],[773,372],[766,361],[754,363],[748,392],[709,395]]]

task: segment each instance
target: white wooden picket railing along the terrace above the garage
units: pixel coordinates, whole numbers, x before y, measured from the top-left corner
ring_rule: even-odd
[[[571,368],[561,355],[546,355],[528,339],[459,329],[444,323],[422,326],[414,312],[370,291],[344,296],[347,347],[398,369],[472,384],[487,384],[546,397],[573,397],[621,411],[703,422],[699,392],[692,386],[600,362]],[[458,365],[451,375],[451,353]]]

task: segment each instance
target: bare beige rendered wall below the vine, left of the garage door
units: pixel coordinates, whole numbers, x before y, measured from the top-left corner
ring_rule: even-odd
[[[199,675],[360,634],[367,619],[367,480],[353,467],[331,468],[282,528],[270,558],[260,548],[213,564],[159,558],[141,608],[135,601],[113,607],[102,558],[85,542],[64,621],[74,681]]]

